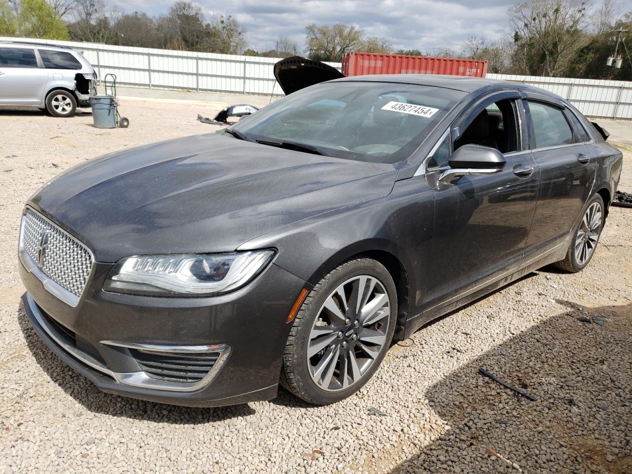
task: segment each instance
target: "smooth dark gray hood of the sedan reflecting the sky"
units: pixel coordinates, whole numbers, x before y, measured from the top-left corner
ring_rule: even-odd
[[[387,195],[397,171],[217,134],[106,155],[47,183],[29,204],[100,262],[232,252],[260,234]]]

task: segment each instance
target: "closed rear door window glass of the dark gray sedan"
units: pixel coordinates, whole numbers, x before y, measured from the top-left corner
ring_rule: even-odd
[[[536,148],[559,147],[574,142],[573,131],[561,109],[533,100],[527,102],[533,123]]]

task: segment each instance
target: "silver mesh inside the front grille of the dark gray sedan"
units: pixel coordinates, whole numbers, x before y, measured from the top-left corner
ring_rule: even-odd
[[[32,209],[22,217],[21,245],[35,264],[55,283],[80,296],[92,269],[92,256],[80,241],[54,226]],[[48,245],[42,264],[38,253],[42,233],[48,231]]]

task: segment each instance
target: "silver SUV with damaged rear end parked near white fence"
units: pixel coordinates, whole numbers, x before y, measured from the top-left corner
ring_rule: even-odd
[[[89,107],[97,73],[67,46],[0,42],[0,106],[33,106],[56,117]]]

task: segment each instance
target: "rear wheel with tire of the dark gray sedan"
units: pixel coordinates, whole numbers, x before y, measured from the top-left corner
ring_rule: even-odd
[[[595,213],[593,214],[592,211],[595,211]],[[595,255],[595,248],[597,248],[597,243],[599,243],[599,237],[605,222],[605,206],[602,197],[599,194],[595,194],[588,201],[583,213],[569,243],[566,257],[564,260],[554,263],[557,268],[571,273],[583,270],[592,259],[592,256]],[[586,227],[586,222],[590,224],[588,228]],[[586,229],[589,230],[588,233],[586,233]],[[582,251],[585,251],[585,253],[582,253]]]

